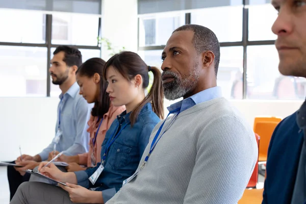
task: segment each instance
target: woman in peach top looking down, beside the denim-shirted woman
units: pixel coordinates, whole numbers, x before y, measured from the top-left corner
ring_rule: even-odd
[[[94,107],[88,121],[89,151],[81,155],[60,157],[60,161],[69,163],[66,167],[69,172],[86,170],[86,167],[82,166],[94,167],[100,162],[101,144],[105,134],[117,115],[125,110],[124,106],[113,106],[106,92],[107,83],[103,77],[105,63],[101,58],[91,58],[84,62],[76,73],[80,94],[89,104],[94,103]]]

